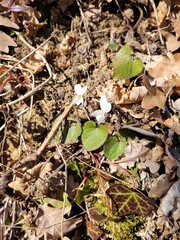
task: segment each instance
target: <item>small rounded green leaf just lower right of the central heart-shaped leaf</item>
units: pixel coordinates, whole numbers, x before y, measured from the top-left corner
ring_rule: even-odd
[[[126,142],[110,137],[104,144],[104,155],[111,161],[118,158],[125,150]]]

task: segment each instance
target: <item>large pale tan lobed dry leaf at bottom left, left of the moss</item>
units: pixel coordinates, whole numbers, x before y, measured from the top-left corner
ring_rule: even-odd
[[[63,217],[62,219],[62,215],[69,214],[70,210],[71,206],[57,209],[48,207],[46,204],[41,205],[36,217],[36,236],[40,238],[47,235],[48,239],[56,239],[77,228],[82,222],[81,217],[71,219]]]

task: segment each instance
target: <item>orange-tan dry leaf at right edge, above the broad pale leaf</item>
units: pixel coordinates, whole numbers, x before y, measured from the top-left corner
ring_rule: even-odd
[[[176,51],[180,47],[180,41],[173,34],[162,31],[163,36],[166,38],[166,47],[170,52]]]

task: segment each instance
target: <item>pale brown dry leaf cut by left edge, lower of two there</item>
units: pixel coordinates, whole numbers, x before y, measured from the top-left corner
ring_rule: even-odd
[[[15,41],[4,32],[0,31],[0,51],[8,53],[9,46],[16,47]]]

